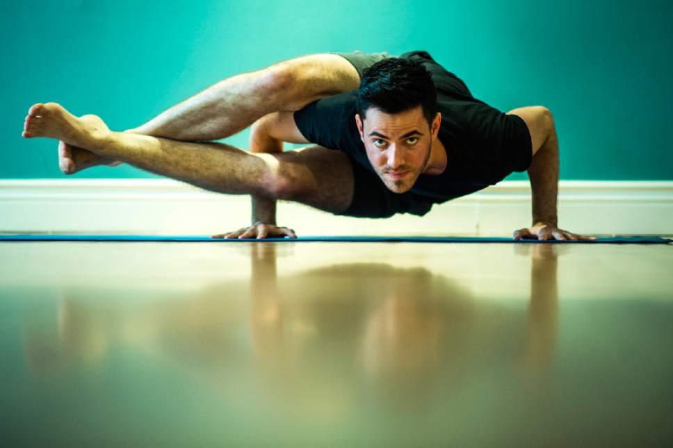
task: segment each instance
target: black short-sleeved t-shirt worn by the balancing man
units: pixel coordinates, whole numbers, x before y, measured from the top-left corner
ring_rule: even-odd
[[[441,113],[439,140],[446,148],[447,165],[439,176],[421,174],[412,192],[441,203],[489,185],[530,166],[532,148],[521,117],[505,115],[472,97],[460,78],[435,63],[425,51],[404,53],[432,74]],[[302,135],[322,147],[344,151],[375,172],[355,124],[355,90],[314,101],[294,114]]]

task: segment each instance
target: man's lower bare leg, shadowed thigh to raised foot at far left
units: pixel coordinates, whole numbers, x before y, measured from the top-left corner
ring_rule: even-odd
[[[75,117],[57,103],[38,103],[29,111],[24,136],[62,140],[99,157],[216,192],[299,201],[332,213],[346,210],[352,201],[352,168],[341,151],[309,147],[252,154],[218,142],[112,132],[95,115],[88,117]]]

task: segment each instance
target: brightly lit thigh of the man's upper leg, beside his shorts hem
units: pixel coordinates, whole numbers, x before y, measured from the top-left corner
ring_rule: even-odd
[[[282,70],[291,80],[282,110],[300,110],[317,99],[355,90],[360,83],[357,69],[335,53],[300,56],[269,68]]]

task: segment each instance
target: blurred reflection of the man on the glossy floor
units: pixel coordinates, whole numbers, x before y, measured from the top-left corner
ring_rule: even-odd
[[[26,326],[31,372],[54,376],[60,367],[61,374],[86,383],[101,372],[107,377],[127,370],[112,384],[89,385],[90,393],[108,397],[111,388],[133,390],[133,404],[145,401],[155,408],[175,403],[164,392],[179,378],[185,395],[202,397],[206,386],[221,408],[236,404],[238,421],[248,430],[257,431],[250,422],[268,411],[282,415],[283,423],[330,436],[339,427],[334,422],[376,416],[368,428],[377,432],[389,424],[389,415],[437,421],[464,412],[475,397],[484,409],[503,404],[502,395],[484,390],[503,388],[513,395],[513,385],[525,385],[512,400],[524,404],[521,412],[535,393],[548,395],[558,315],[554,258],[569,244],[517,244],[532,251],[528,306],[476,297],[425,267],[323,261],[280,275],[277,258],[291,246],[236,247],[246,256],[250,250],[249,279],[220,280],[181,294],[159,292],[161,297],[123,285],[88,300],[75,289],[59,302],[58,332],[44,333],[44,322]],[[124,300],[108,300],[120,292]],[[72,396],[64,392],[59,405],[70,404]],[[501,418],[500,412],[489,415]],[[213,429],[207,423],[212,420],[204,421],[200,428]],[[98,427],[96,420],[86,422],[86,428]],[[161,431],[145,428],[149,438]],[[441,432],[432,436],[441,438]]]

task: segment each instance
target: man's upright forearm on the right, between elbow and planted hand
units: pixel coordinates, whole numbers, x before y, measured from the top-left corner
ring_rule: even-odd
[[[533,190],[533,226],[544,223],[558,226],[558,138],[553,130],[528,168]]]

